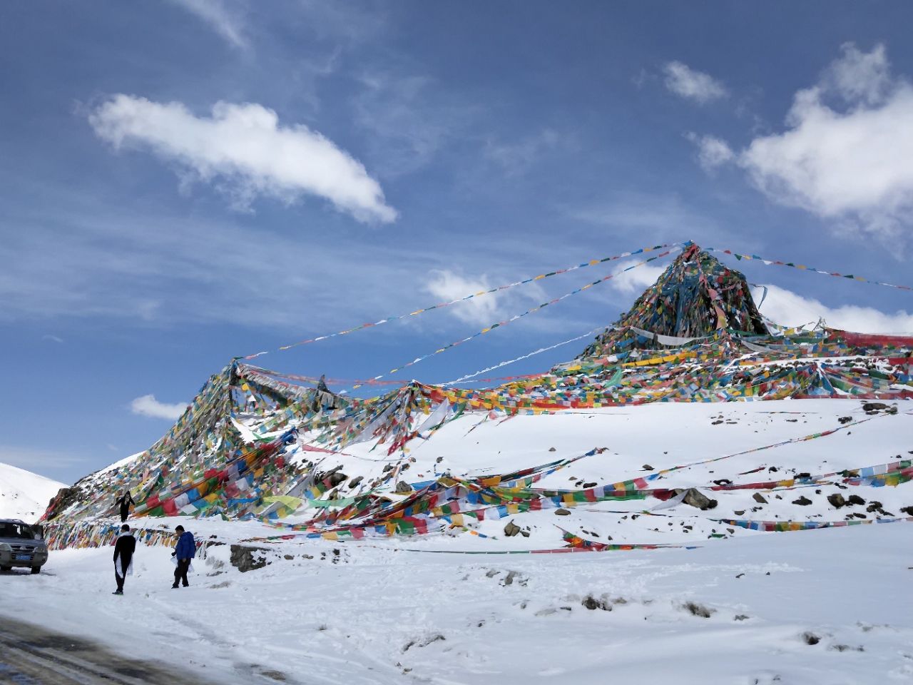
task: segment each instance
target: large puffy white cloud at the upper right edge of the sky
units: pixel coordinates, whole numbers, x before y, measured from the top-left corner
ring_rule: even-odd
[[[786,130],[755,138],[736,161],[774,202],[832,219],[841,232],[893,236],[913,209],[913,88],[891,76],[884,46],[842,50],[795,94]]]

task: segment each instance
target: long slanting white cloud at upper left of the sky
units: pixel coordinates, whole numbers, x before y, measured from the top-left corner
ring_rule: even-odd
[[[91,111],[89,123],[116,148],[146,148],[177,163],[184,183],[221,185],[236,208],[249,208],[257,195],[291,202],[309,194],[359,221],[396,218],[362,163],[307,126],[280,126],[275,111],[256,103],[220,101],[212,117],[196,117],[180,102],[119,94]]]

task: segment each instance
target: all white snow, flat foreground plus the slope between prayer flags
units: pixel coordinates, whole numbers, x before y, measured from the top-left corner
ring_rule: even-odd
[[[414,441],[405,458],[370,444],[308,453],[323,459],[320,469],[340,464],[349,479],[408,465],[401,479],[416,483],[445,470],[504,473],[607,448],[536,487],[605,485],[685,465],[650,487],[696,487],[719,503],[708,511],[658,508],[656,499],[581,503],[566,515],[479,522],[475,531],[488,537],[260,541],[273,549],[272,563],[246,574],[227,563],[225,544],[210,547],[193,585],[178,590],[170,589],[169,550],[141,547],[123,597],[110,595],[110,549],[53,552],[40,575],[0,578],[0,614],[231,683],[913,681],[913,522],[801,532],[720,522],[887,521],[907,515],[913,483],[847,486],[840,476],[710,490],[715,480],[818,476],[913,457],[913,406],[874,416],[861,406],[787,400],[506,421],[473,415]],[[863,503],[838,508],[827,500],[834,494]],[[506,537],[511,520],[529,537]],[[281,532],[257,522],[182,522],[198,539],[223,543]],[[595,542],[691,549],[522,553],[561,548],[558,526]]]

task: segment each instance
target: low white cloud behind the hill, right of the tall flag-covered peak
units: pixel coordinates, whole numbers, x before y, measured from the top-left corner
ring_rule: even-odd
[[[804,298],[792,290],[774,285],[767,286],[767,297],[761,313],[783,326],[796,326],[824,318],[831,328],[866,333],[913,333],[913,314],[896,311],[893,314],[873,309],[843,305],[831,308],[818,300]],[[755,300],[761,301],[761,291],[755,291]]]

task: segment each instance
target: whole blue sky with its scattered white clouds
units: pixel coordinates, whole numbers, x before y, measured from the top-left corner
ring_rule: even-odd
[[[0,13],[0,461],[52,478],[148,447],[233,356],[645,245],[913,282],[907,3]],[[774,286],[774,320],[913,330],[907,291],[740,266]],[[257,361],[373,376],[612,270]],[[656,273],[393,378],[448,381],[608,324]]]

